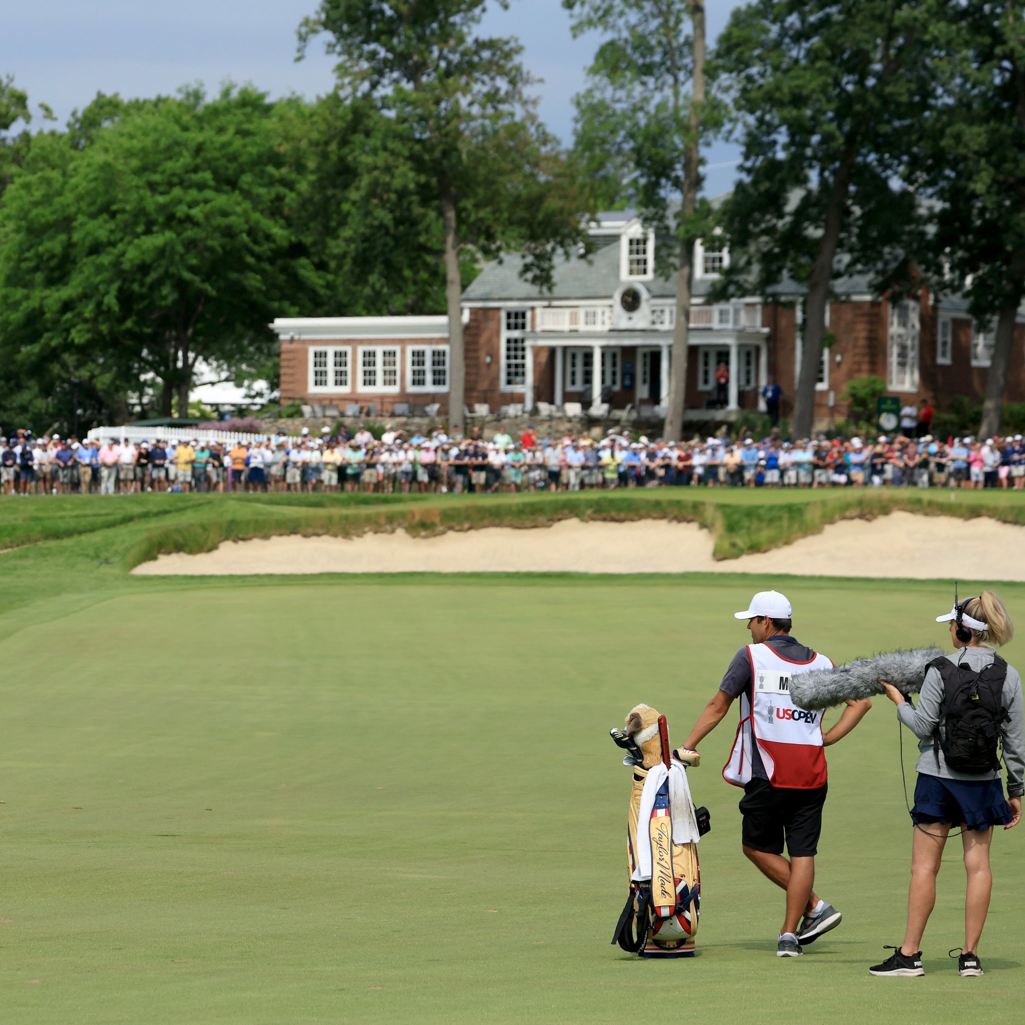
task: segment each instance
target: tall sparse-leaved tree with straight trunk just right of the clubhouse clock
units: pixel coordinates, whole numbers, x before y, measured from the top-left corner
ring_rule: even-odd
[[[709,231],[699,201],[701,141],[720,109],[706,98],[704,0],[563,0],[573,32],[608,38],[577,97],[577,148],[599,187],[637,204],[669,245],[656,246],[663,274],[676,275],[669,402],[663,434],[683,435],[687,399],[694,243]]]

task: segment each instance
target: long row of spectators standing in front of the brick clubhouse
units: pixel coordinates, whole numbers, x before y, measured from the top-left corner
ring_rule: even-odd
[[[909,435],[915,432],[909,432]],[[1025,487],[1025,442],[899,434],[874,440],[797,442],[776,433],[674,443],[610,430],[519,439],[504,428],[489,441],[365,425],[320,438],[251,444],[195,441],[0,438],[0,487],[7,495],[134,492],[520,492],[634,487]]]

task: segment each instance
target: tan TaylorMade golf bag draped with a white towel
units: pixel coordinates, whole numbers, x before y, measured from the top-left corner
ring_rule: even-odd
[[[659,720],[666,752],[663,764],[668,769],[668,735],[664,729],[664,716],[659,716]],[[678,801],[687,802],[690,807],[686,811],[695,823],[694,842],[674,844],[670,803],[672,787],[668,774],[661,766],[657,768],[656,771],[664,774],[665,778],[655,792],[647,821],[642,822],[642,796],[652,769],[634,764],[632,770],[626,830],[629,892],[612,942],[641,957],[693,957],[701,906],[701,871],[696,840],[698,832],[707,831],[708,813],[705,809],[695,811],[690,804],[686,786],[687,770],[673,763],[669,771],[683,774],[684,780],[681,790],[678,777]]]

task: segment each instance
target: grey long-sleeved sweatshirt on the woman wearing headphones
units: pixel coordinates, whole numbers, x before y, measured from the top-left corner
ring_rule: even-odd
[[[961,648],[953,655],[947,655],[951,662],[968,663],[976,671],[993,661],[992,648]],[[897,717],[919,739],[917,770],[925,776],[939,776],[941,779],[998,779],[998,769],[981,775],[969,775],[948,768],[943,751],[933,752],[933,731],[940,721],[940,705],[943,701],[943,678],[939,669],[930,669],[918,695],[918,707],[910,701],[897,705]],[[1022,678],[1018,670],[1008,666],[1003,681],[1003,707],[1011,716],[1010,722],[1000,726],[1003,748],[1003,766],[1008,770],[1008,796],[1020,797],[1025,792],[1025,719],[1022,710]],[[942,729],[941,729],[942,733]],[[939,761],[937,761],[937,756]]]

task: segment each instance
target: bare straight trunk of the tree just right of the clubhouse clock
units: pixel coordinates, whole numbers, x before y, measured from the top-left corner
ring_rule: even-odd
[[[694,24],[694,73],[691,83],[690,134],[684,151],[684,196],[681,220],[684,242],[676,274],[676,321],[672,329],[672,364],[669,374],[669,399],[662,428],[666,441],[681,441],[684,434],[684,409],[687,405],[687,362],[690,355],[691,286],[694,278],[694,240],[687,221],[698,205],[698,167],[701,157],[701,107],[705,97],[705,12],[704,0],[692,0]],[[662,368],[664,374],[666,368]]]

